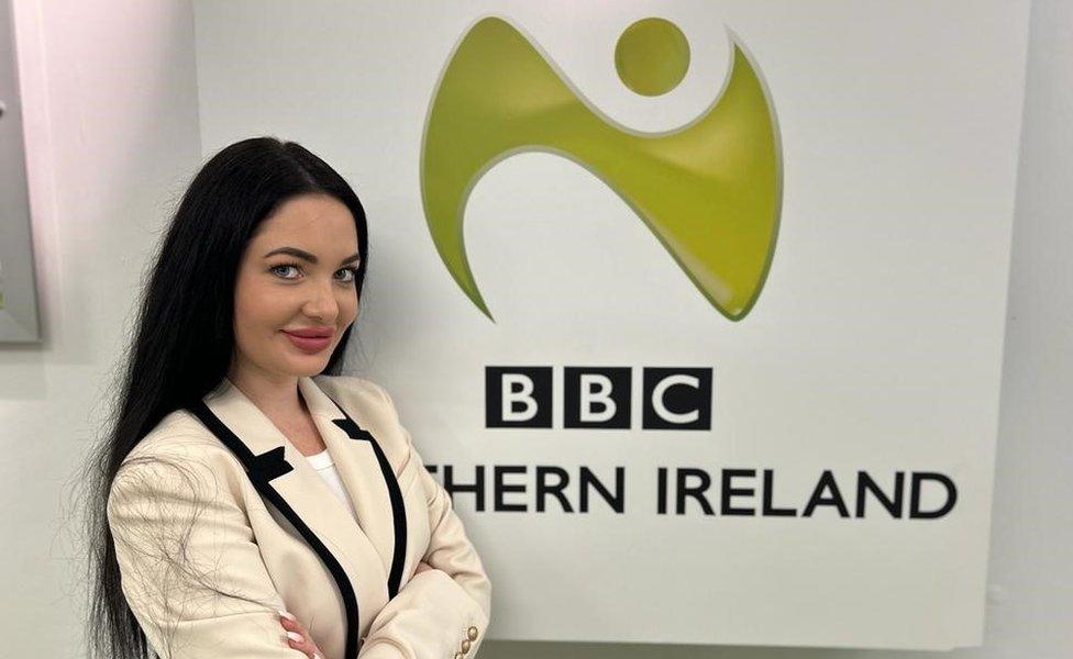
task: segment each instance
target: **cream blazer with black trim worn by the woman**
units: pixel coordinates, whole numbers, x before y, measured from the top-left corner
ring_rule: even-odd
[[[357,522],[230,380],[165,416],[108,499],[126,601],[170,659],[301,659],[276,608],[325,659],[472,658],[491,584],[391,398],[354,377],[303,377]],[[432,570],[414,576],[419,561]]]

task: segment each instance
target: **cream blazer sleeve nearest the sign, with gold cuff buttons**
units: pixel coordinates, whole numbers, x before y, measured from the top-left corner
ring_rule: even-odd
[[[472,659],[491,617],[491,582],[469,541],[451,496],[424,468],[410,433],[399,423],[391,396],[377,386],[406,437],[408,457],[418,470],[429,505],[429,548],[423,560],[433,569],[416,574],[369,625],[363,659]],[[467,641],[463,644],[463,641]],[[467,651],[463,651],[467,649]]]

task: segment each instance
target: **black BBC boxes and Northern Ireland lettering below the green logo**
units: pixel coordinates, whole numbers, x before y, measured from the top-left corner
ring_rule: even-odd
[[[711,369],[642,370],[642,410],[638,415],[641,429],[707,431],[711,427]],[[486,427],[553,428],[556,409],[562,410],[564,428],[631,427],[629,368],[566,367],[563,383],[562,404],[556,405],[551,367],[487,367]],[[623,467],[615,470],[612,481],[604,482],[594,469],[582,465],[573,477],[575,484],[567,470],[546,465],[535,466],[531,474],[526,466],[495,465],[486,469],[477,465],[474,482],[468,485],[461,484],[454,474],[453,467],[444,467],[445,488],[452,493],[474,493],[477,511],[485,510],[488,493],[495,502],[491,509],[495,512],[543,513],[555,509],[585,513],[594,500],[600,500],[601,505],[616,513],[627,512]],[[840,485],[833,470],[826,469],[818,474],[815,485],[805,491],[801,506],[775,505],[774,469],[723,468],[714,477],[704,468],[657,467],[655,474],[654,492],[642,501],[631,501],[631,512],[811,517],[827,507],[830,512],[821,514],[837,514],[847,520],[864,518],[866,511],[889,520],[934,520],[950,514],[958,501],[954,480],[929,471],[894,470],[881,477],[858,470]],[[530,477],[531,491],[526,478],[519,481],[519,477]],[[930,510],[921,503],[927,488],[931,489],[931,500],[939,502]],[[508,492],[515,493],[509,495],[512,503],[507,502]],[[524,496],[518,496],[519,493]],[[528,505],[530,500],[532,507]]]

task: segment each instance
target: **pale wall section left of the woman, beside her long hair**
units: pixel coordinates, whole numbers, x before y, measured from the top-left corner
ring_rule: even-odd
[[[8,1],[8,0],[2,0]],[[0,346],[0,656],[81,657],[68,479],[200,158],[186,2],[15,0],[41,346]]]

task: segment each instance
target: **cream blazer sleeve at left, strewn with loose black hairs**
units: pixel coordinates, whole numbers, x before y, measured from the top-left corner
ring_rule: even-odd
[[[121,466],[108,524],[128,604],[164,659],[305,659],[287,645],[283,599],[221,480],[190,455]]]

